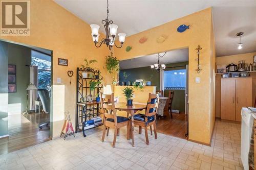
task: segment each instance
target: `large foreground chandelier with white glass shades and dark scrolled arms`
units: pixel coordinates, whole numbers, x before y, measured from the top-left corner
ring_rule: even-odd
[[[119,33],[119,41],[121,43],[120,46],[117,46],[115,43],[115,37],[117,33],[118,26],[113,24],[112,20],[109,20],[109,0],[107,0],[107,6],[106,6],[106,19],[102,20],[101,23],[104,24],[104,29],[106,32],[106,38],[102,38],[99,42],[99,26],[96,24],[90,25],[92,28],[92,37],[93,42],[95,43],[96,47],[100,47],[101,44],[106,44],[107,47],[109,47],[109,50],[112,49],[113,45],[115,45],[117,48],[121,48],[123,46],[123,42],[125,40],[125,33]]]

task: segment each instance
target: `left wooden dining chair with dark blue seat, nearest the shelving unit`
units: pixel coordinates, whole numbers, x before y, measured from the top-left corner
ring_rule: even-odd
[[[107,136],[109,135],[109,128],[114,128],[114,140],[113,140],[113,148],[116,145],[116,136],[118,134],[118,130],[121,127],[127,126],[127,139],[130,139],[130,131],[131,131],[131,120],[127,117],[117,116],[114,102],[114,93],[112,94],[102,94],[101,97],[101,107],[103,112],[103,134],[102,134],[102,142],[105,138],[106,128],[108,128]],[[105,102],[105,101],[111,101]]]

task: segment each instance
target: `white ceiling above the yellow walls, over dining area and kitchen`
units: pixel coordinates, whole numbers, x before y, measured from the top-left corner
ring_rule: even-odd
[[[54,1],[104,32],[106,0]],[[255,0],[109,0],[109,17],[119,26],[118,32],[129,36],[208,7],[213,7],[217,56],[256,51]],[[244,47],[238,51],[236,33],[240,31],[245,32]]]

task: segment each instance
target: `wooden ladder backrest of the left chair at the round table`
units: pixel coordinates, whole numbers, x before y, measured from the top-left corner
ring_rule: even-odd
[[[113,118],[114,123],[117,126],[117,116],[116,116],[116,109],[115,109],[115,102],[114,102],[114,93],[112,94],[102,94],[100,95],[101,98],[101,107],[103,112],[103,122],[107,118]]]

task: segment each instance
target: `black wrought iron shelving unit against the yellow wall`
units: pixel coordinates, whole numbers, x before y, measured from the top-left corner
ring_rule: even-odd
[[[93,78],[82,78],[82,73],[88,72],[90,74],[93,74]],[[95,78],[98,77],[98,78]],[[98,94],[101,89],[103,88],[103,85],[99,83],[95,90],[90,90],[89,82],[91,81],[98,81],[100,82],[103,79],[103,77],[100,75],[100,71],[93,69],[91,67],[86,68],[79,68],[77,67],[77,82],[76,82],[76,127],[75,132],[83,131],[84,137],[86,134],[84,133],[83,124],[87,120],[91,120],[93,117],[100,116],[101,108],[100,108],[100,102],[96,102],[96,94]],[[92,102],[86,101],[86,98],[88,95],[92,96]],[[103,125],[100,124],[98,126]],[[95,126],[95,127],[98,127]]]

